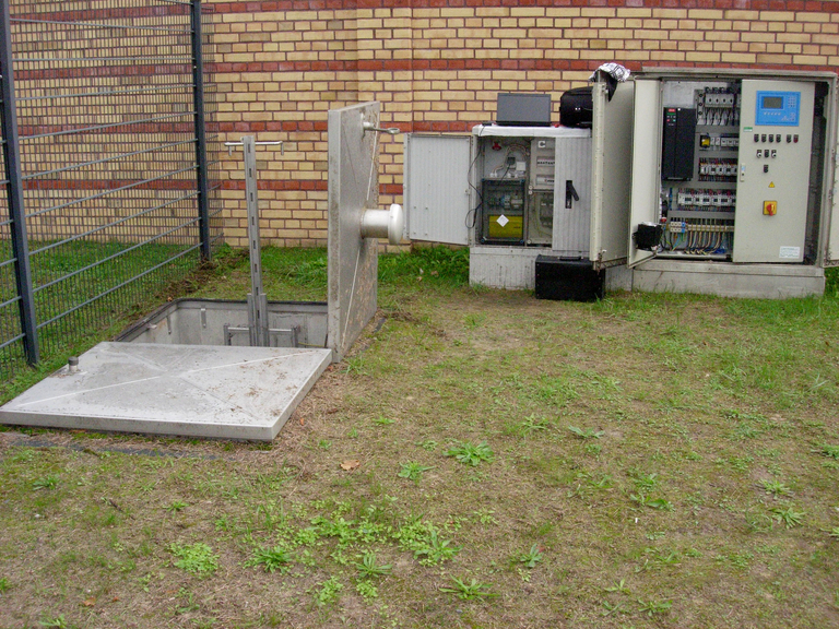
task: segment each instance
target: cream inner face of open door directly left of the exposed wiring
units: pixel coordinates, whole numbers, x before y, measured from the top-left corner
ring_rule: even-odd
[[[640,223],[659,221],[661,117],[661,83],[654,79],[636,79],[627,266],[636,266],[653,256],[652,251],[635,246],[633,234]]]

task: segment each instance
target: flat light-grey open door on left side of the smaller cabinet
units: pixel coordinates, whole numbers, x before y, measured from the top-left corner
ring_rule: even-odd
[[[469,245],[471,135],[405,135],[404,205],[412,240]]]

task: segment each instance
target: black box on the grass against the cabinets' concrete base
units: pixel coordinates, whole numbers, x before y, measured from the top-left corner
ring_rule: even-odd
[[[589,260],[536,257],[536,298],[594,301],[603,298],[605,271],[594,271]]]

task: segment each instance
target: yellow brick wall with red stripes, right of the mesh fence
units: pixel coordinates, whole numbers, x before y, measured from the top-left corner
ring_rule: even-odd
[[[326,245],[327,111],[379,100],[382,124],[468,131],[498,92],[559,95],[606,61],[830,70],[839,0],[332,0],[213,2],[225,140],[260,150],[265,242]],[[401,202],[402,137],[382,137],[380,203]],[[240,154],[222,159],[225,233],[246,246]]]

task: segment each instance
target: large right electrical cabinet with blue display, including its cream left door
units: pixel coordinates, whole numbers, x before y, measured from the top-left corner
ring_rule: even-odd
[[[835,92],[829,73],[636,76],[630,266],[827,262]]]

